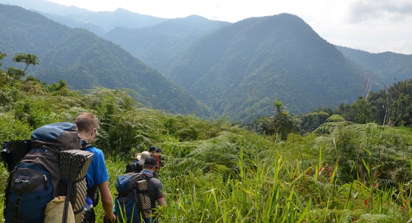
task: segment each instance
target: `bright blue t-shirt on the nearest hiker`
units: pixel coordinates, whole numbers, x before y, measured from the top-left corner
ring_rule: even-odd
[[[87,183],[89,187],[92,187],[94,184],[99,185],[108,180],[109,173],[107,173],[106,164],[104,163],[104,155],[101,150],[96,147],[90,147],[87,148],[86,151],[94,154],[89,169],[86,172]]]

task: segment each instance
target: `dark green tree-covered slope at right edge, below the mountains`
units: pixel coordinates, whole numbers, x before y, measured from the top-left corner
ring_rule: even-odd
[[[355,103],[342,103],[334,110],[319,108],[311,113],[299,114],[301,134],[314,131],[333,115],[340,115],[354,123],[403,126],[408,132],[412,126],[412,79],[385,86],[378,92],[371,91],[366,96],[360,96]]]

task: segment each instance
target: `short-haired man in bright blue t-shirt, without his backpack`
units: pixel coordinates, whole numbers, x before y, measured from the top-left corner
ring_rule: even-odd
[[[98,202],[98,188],[101,194],[101,204],[105,212],[104,218],[111,222],[115,222],[116,216],[113,214],[113,198],[107,182],[109,174],[107,172],[103,152],[94,146],[88,145],[92,143],[97,134],[99,121],[92,113],[84,112],[76,117],[75,124],[77,125],[79,136],[82,140],[82,147],[85,147],[86,151],[94,154],[89,169],[86,172],[88,186],[88,196],[86,201],[88,201],[88,199],[92,200],[92,203],[96,205]],[[94,197],[91,197],[90,195]],[[94,209],[91,207],[85,212],[84,223],[94,222],[95,213]]]

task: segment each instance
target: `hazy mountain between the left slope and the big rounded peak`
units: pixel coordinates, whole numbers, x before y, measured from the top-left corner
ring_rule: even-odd
[[[117,27],[103,38],[120,44],[133,56],[163,73],[174,58],[192,43],[229,24],[191,15],[139,29]]]

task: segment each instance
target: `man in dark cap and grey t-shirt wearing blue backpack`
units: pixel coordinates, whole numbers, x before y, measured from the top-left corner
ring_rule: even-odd
[[[163,184],[153,177],[158,166],[157,159],[144,160],[143,170],[120,175],[116,181],[118,195],[115,199],[115,213],[119,223],[157,223],[153,210],[166,207]]]

